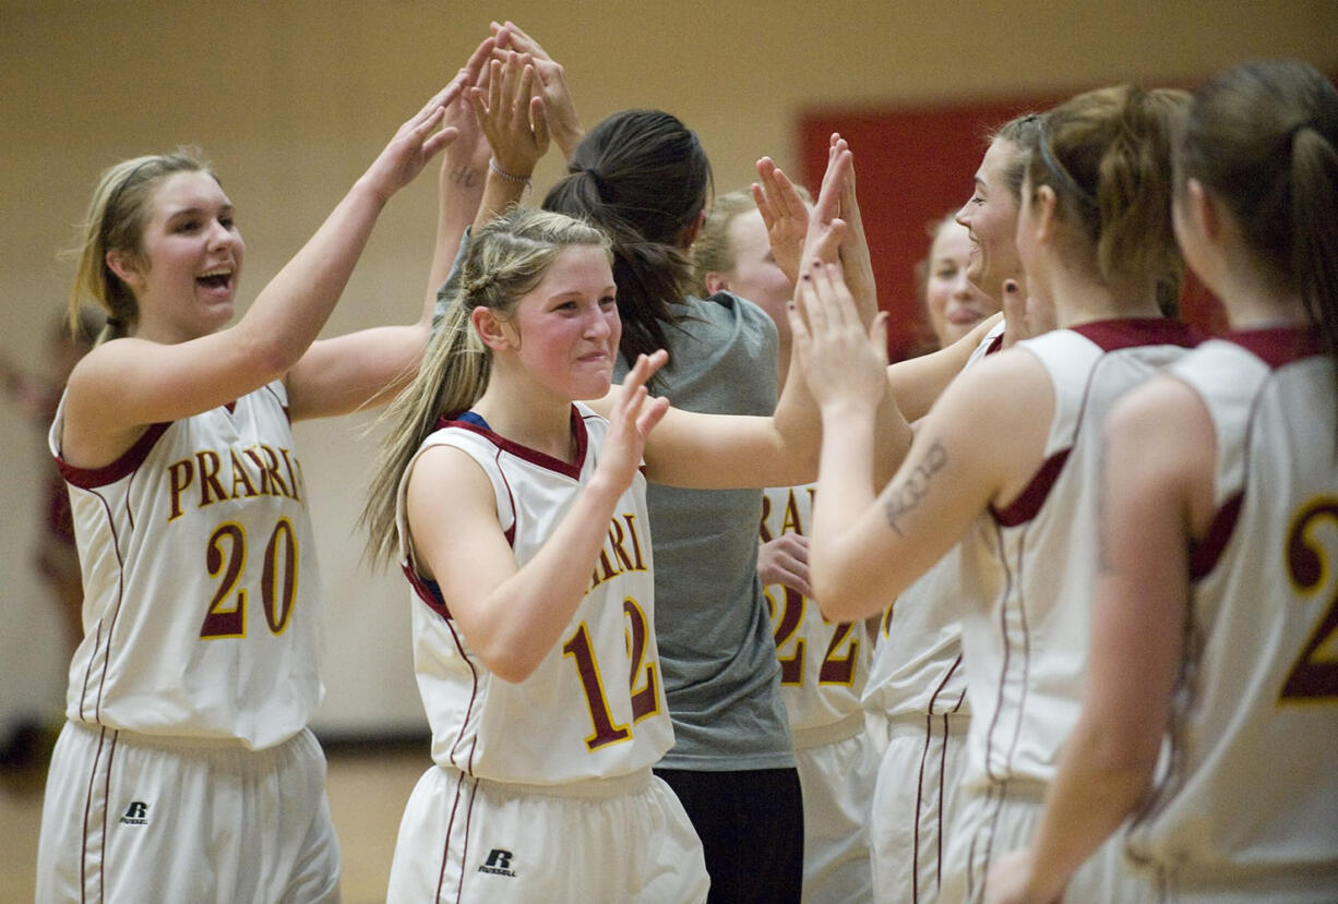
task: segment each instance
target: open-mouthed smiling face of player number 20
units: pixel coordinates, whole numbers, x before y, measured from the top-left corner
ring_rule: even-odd
[[[233,205],[213,175],[174,173],[149,202],[138,254],[107,262],[139,304],[139,336],[179,342],[222,328],[233,316],[246,243]]]

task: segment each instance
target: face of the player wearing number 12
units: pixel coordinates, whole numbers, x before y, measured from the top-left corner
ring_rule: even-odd
[[[571,245],[500,321],[506,344],[533,380],[565,400],[609,392],[622,336],[613,269],[598,245]]]

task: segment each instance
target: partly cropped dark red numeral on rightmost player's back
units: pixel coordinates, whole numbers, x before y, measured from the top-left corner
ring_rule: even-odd
[[[1325,497],[1309,503],[1291,523],[1287,534],[1287,575],[1302,595],[1322,592],[1334,596],[1319,618],[1310,639],[1301,649],[1297,663],[1287,673],[1282,699],[1318,701],[1338,697],[1338,576],[1330,552],[1315,538],[1321,524],[1338,531],[1338,499]]]

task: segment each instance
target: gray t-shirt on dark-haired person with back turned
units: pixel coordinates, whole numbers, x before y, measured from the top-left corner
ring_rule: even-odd
[[[771,415],[779,341],[771,318],[729,293],[685,298],[666,325],[656,394],[676,408]],[[618,360],[615,380],[628,362]],[[656,637],[674,746],[660,766],[729,772],[795,765],[767,599],[757,582],[760,489],[650,484]]]

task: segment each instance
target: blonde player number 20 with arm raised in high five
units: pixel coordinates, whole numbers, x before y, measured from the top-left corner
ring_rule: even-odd
[[[108,168],[71,316],[107,313],[51,451],[71,487],[87,633],[70,669],[39,901],[339,897],[321,594],[289,424],[376,404],[419,322],[313,341],[384,207],[455,135],[452,83],[396,132],[233,326],[245,243],[191,152]],[[257,820],[257,813],[264,818]]]

